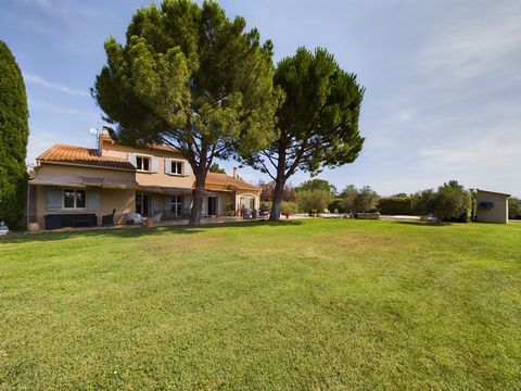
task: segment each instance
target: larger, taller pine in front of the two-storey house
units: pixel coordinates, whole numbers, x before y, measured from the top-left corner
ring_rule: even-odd
[[[170,146],[188,160],[190,225],[200,223],[214,160],[251,154],[276,137],[272,45],[244,28],[214,1],[164,0],[136,12],[125,46],[105,41],[92,94],[120,142]]]

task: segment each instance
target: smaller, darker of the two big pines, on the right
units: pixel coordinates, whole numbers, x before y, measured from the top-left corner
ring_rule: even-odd
[[[278,220],[284,185],[295,172],[316,175],[358,156],[364,88],[326,49],[305,48],[278,64],[275,84],[285,93],[277,111],[279,136],[245,162],[275,180],[270,219]]]

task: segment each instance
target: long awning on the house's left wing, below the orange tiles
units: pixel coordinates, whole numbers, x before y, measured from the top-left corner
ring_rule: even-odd
[[[98,178],[81,176],[54,176],[37,175],[29,179],[29,185],[60,186],[72,188],[97,187],[103,189],[138,189],[139,185],[135,180],[124,180],[116,178]]]

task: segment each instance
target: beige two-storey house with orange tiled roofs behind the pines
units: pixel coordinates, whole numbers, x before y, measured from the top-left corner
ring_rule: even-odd
[[[124,223],[125,213],[186,218],[192,205],[195,177],[177,150],[123,146],[106,130],[98,137],[98,149],[51,147],[37,157],[35,172],[30,220],[46,229],[55,228],[56,220],[59,226],[100,225],[113,210],[116,224]],[[260,189],[241,180],[237,168],[233,176],[208,173],[203,216],[258,209],[259,195]]]

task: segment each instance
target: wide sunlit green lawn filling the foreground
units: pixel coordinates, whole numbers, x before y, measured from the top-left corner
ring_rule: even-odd
[[[0,389],[521,389],[521,224],[0,240]]]

